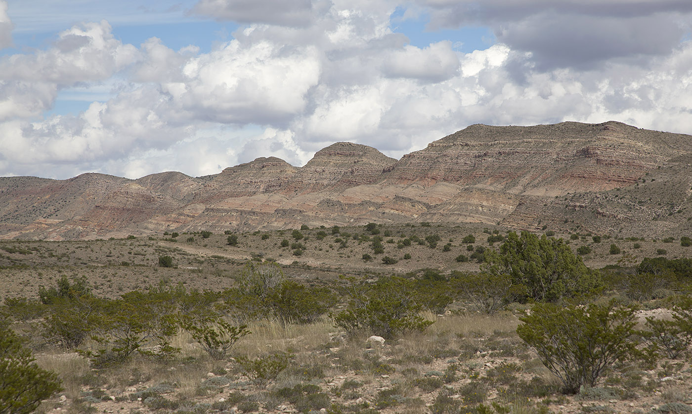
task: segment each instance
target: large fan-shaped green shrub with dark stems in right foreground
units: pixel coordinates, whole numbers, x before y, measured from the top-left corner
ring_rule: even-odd
[[[565,393],[596,386],[614,364],[637,357],[635,308],[607,305],[560,307],[538,303],[520,318],[519,337],[536,348],[548,370],[563,383]]]

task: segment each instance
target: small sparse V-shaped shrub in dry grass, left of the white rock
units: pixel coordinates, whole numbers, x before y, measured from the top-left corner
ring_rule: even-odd
[[[230,348],[251,332],[246,325],[233,326],[217,318],[202,320],[181,319],[183,329],[190,332],[192,339],[213,359],[224,359]]]

